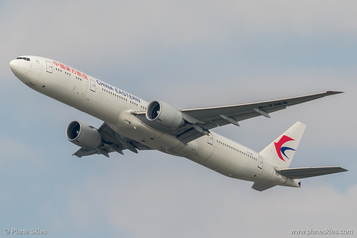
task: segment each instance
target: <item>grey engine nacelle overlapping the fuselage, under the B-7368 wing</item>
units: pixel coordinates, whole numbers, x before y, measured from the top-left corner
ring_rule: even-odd
[[[147,105],[146,118],[165,128],[178,128],[185,124],[181,111],[163,101],[152,101]]]

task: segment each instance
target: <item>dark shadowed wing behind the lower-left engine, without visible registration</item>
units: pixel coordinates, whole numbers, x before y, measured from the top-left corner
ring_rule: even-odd
[[[125,137],[113,129],[109,127],[108,124],[103,123],[98,129],[100,135],[102,136],[103,144],[101,147],[96,148],[94,150],[89,150],[86,148],[80,148],[76,153],[72,155],[76,155],[81,158],[82,156],[92,155],[92,154],[103,154],[106,157],[109,157],[109,153],[118,152],[120,154],[124,154],[123,150],[129,149],[130,151],[137,153],[138,150],[152,150],[152,148],[147,147],[144,144],[141,144],[135,140],[132,140],[128,137]]]

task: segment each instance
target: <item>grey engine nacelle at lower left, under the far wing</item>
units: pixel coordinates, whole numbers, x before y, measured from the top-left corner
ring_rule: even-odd
[[[73,144],[90,150],[102,144],[99,131],[81,121],[73,121],[67,126],[66,137]]]

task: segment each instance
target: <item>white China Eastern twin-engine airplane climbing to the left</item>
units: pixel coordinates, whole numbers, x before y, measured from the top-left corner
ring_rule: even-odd
[[[301,187],[301,178],[348,171],[342,167],[289,168],[306,125],[296,122],[260,152],[211,131],[325,96],[306,96],[258,103],[176,109],[164,101],[145,101],[82,71],[48,58],[22,55],[10,61],[17,78],[31,89],[92,115],[104,123],[97,129],[74,120],[66,138],[81,147],[81,158],[123,150],[159,150],[185,157],[227,177],[254,182],[263,191],[276,185]]]

